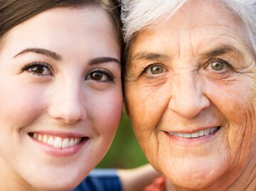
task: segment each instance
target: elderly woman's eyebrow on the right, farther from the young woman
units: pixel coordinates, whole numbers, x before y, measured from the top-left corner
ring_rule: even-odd
[[[203,58],[213,58],[218,55],[224,55],[227,53],[238,53],[240,55],[243,55],[238,48],[235,48],[233,45],[220,45],[217,48],[213,48],[213,50],[206,51],[201,54],[201,57]]]

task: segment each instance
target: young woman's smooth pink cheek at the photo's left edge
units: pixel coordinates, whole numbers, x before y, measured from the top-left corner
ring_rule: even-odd
[[[0,124],[17,128],[28,126],[43,111],[44,87],[18,79],[7,81],[0,79],[0,104],[4,108],[0,110]]]

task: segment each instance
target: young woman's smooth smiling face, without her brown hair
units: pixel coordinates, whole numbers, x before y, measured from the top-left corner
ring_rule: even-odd
[[[119,60],[117,35],[95,6],[51,9],[9,31],[0,51],[1,180],[70,190],[85,178],[117,130]]]

